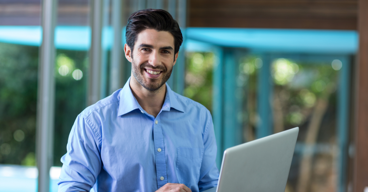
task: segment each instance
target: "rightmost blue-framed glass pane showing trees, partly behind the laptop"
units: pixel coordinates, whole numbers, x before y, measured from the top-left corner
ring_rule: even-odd
[[[341,61],[340,61],[341,62]],[[335,191],[336,82],[339,61],[304,64],[275,59],[274,133],[300,127],[286,191]]]

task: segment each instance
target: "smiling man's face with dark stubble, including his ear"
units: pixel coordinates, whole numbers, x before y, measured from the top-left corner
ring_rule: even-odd
[[[127,44],[124,50],[125,57],[132,63],[133,76],[149,91],[158,90],[166,83],[177,58],[171,33],[155,29],[143,30],[137,36],[134,50]]]

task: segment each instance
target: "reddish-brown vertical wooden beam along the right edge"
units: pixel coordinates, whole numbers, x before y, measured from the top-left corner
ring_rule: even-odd
[[[368,1],[358,0],[358,89],[355,130],[354,191],[368,186]]]

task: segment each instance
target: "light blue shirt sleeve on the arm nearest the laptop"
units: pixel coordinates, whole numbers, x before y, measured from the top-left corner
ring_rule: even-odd
[[[219,170],[216,166],[217,145],[215,131],[213,130],[212,117],[207,110],[206,128],[203,134],[204,154],[199,175],[198,188],[199,191],[217,186],[219,180]]]

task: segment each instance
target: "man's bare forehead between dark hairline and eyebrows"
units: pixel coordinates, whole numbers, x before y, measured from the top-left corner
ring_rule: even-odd
[[[171,46],[174,48],[174,36],[167,31],[156,31],[155,29],[145,29],[140,32],[135,40],[135,45],[149,44],[153,47]]]

